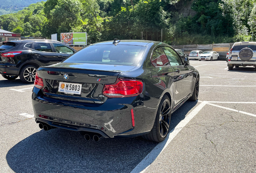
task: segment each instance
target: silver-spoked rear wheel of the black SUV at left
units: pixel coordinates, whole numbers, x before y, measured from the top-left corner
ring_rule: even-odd
[[[20,71],[21,81],[24,83],[33,83],[35,80],[35,73],[37,72],[37,67],[33,65],[26,65]]]

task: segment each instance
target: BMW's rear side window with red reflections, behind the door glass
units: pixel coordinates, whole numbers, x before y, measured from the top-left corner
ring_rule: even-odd
[[[155,67],[159,66],[170,66],[169,61],[165,55],[165,52],[163,52],[163,49],[161,47],[157,48],[151,57],[151,63]]]

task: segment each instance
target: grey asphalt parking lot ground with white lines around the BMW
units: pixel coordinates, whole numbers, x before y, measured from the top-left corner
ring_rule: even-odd
[[[190,63],[200,72],[198,101],[172,114],[161,143],[141,137],[96,143],[72,131],[41,130],[33,119],[33,84],[0,76],[0,172],[256,172],[254,68]]]

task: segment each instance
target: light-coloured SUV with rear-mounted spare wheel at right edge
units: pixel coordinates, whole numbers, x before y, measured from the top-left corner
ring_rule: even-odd
[[[235,42],[230,49],[227,66],[232,70],[235,66],[254,66],[256,70],[256,42]]]

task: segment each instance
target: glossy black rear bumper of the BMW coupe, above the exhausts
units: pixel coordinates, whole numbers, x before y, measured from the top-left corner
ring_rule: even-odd
[[[122,103],[120,98],[114,98],[107,99],[103,104],[89,106],[86,103],[43,97],[41,90],[35,87],[32,93],[37,123],[72,131],[99,133],[105,138],[135,137],[149,133],[155,121],[156,108],[148,109],[138,97],[121,99]],[[157,106],[155,102],[153,105]],[[131,109],[134,110],[135,127],[132,126]]]

